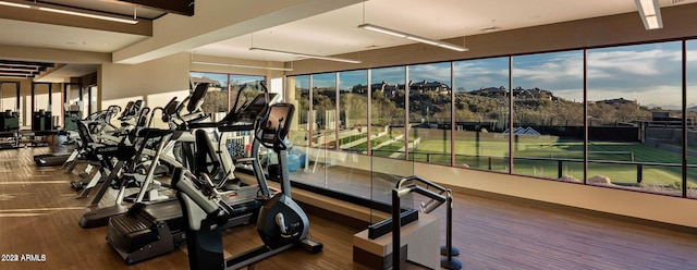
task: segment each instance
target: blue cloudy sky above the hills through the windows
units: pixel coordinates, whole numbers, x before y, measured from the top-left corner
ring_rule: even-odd
[[[589,49],[587,58],[588,99],[625,98],[649,108],[676,109],[682,95],[682,42],[658,42]],[[687,103],[697,106],[697,40],[687,47]],[[583,101],[583,50],[516,56],[513,62],[515,87],[540,88],[570,101]],[[509,86],[509,58],[454,62],[455,89],[472,91],[481,87]],[[404,84],[405,68],[372,69],[371,83]],[[333,86],[334,73],[314,74],[316,87]],[[408,66],[413,82],[428,81],[453,85],[450,62]],[[340,72],[340,89],[365,85],[365,70]],[[305,87],[308,76],[298,77]],[[693,94],[694,93],[694,94]]]

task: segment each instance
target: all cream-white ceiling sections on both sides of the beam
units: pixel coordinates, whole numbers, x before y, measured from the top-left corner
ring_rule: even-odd
[[[95,2],[85,0],[46,2],[69,4],[71,1]],[[112,9],[113,3],[109,2],[110,0],[106,0],[105,4],[110,4],[107,8]],[[697,0],[660,0],[659,2],[665,8],[695,3]],[[90,7],[90,9],[99,9],[99,7]],[[486,34],[487,32],[482,29],[492,26],[499,30],[506,30],[628,12],[637,12],[634,0],[370,0],[254,34],[201,46],[188,52],[288,62],[299,58],[249,51],[249,48],[254,46],[332,56],[414,42],[357,29],[356,26],[363,23],[431,39],[465,36],[463,42],[466,46],[466,36]],[[231,15],[234,15],[234,12]],[[640,20],[638,12],[636,20]],[[147,38],[132,34],[0,20],[0,45],[114,52]]]

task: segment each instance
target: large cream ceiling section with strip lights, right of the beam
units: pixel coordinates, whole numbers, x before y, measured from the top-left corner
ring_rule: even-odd
[[[690,2],[697,1],[660,0],[661,7]],[[463,42],[466,46],[466,36],[486,34],[487,30],[482,29],[492,26],[505,30],[627,12],[637,12],[634,0],[370,0],[203,46],[191,52],[288,62],[302,58],[249,51],[248,48],[332,56],[415,42],[357,29],[356,26],[363,23],[431,39],[465,36]]]

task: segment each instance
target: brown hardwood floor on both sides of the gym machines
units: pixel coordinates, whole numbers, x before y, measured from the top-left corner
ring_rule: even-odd
[[[0,254],[46,258],[0,262],[0,269],[188,268],[185,246],[126,266],[106,242],[106,229],[81,229],[87,199],[75,199],[71,175],[34,164],[33,156],[47,151],[0,151]],[[435,214],[443,217],[444,209]],[[697,235],[689,233],[462,193],[455,193],[454,219],[453,243],[464,269],[697,269]],[[290,250],[256,269],[365,269],[352,262],[357,229],[325,214],[310,213],[310,222],[322,253]],[[224,243],[235,254],[261,242],[254,226],[244,226],[227,232]]]

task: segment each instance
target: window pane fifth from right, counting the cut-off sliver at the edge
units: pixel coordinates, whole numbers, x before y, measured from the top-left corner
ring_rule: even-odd
[[[451,163],[450,62],[409,65],[409,159]]]

